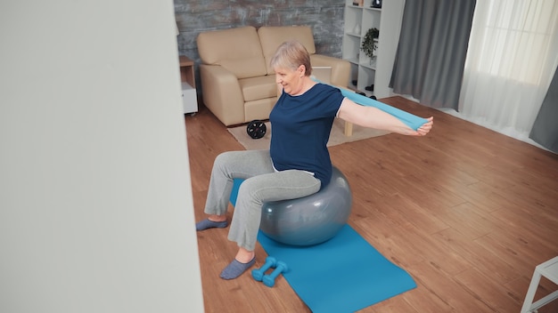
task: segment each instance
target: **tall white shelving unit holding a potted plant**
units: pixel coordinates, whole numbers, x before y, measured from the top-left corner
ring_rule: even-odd
[[[353,5],[353,0],[346,0],[342,58],[351,64],[349,88],[365,92],[366,96],[384,98],[392,93],[388,84],[405,0],[383,0],[382,8],[373,8],[371,4],[372,0],[364,0],[362,6]],[[380,30],[374,60],[360,50],[366,31],[370,28]],[[357,84],[352,84],[353,81],[357,81]],[[371,84],[374,84],[374,91],[365,90]]]

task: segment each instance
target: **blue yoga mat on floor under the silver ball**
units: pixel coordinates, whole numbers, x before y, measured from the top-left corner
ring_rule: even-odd
[[[233,205],[241,183],[234,180]],[[267,255],[287,264],[284,279],[314,313],[354,312],[416,287],[405,270],[349,225],[321,245],[283,245],[261,232],[258,242]]]

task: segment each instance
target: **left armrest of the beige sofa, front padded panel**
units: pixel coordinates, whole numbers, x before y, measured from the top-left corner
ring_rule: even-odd
[[[203,103],[226,126],[244,123],[244,97],[238,78],[219,65],[200,65]]]

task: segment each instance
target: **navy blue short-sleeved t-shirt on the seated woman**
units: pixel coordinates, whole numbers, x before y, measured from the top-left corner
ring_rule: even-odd
[[[283,92],[269,115],[270,154],[276,170],[314,173],[322,181],[321,188],[330,182],[327,141],[343,98],[339,89],[328,84],[315,84],[299,96]]]

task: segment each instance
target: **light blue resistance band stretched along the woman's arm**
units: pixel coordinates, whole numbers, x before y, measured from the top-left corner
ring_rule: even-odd
[[[314,77],[312,77],[312,79],[314,81],[316,81],[317,83],[325,84],[325,83],[317,80]],[[419,127],[421,127],[424,123],[428,122],[428,120],[426,118],[415,116],[411,113],[408,113],[408,112],[406,112],[404,110],[401,110],[401,109],[398,109],[398,108],[393,108],[390,105],[382,103],[378,100],[373,100],[372,98],[365,97],[362,94],[358,94],[357,92],[353,92],[349,89],[340,88],[340,87],[333,86],[333,85],[331,85],[331,86],[341,90],[341,94],[344,97],[348,98],[349,100],[352,100],[353,102],[355,102],[357,104],[360,104],[362,106],[365,106],[365,107],[379,108],[382,111],[384,111],[386,113],[389,113],[392,116],[397,117],[401,122],[403,122],[407,126],[413,128],[415,131]]]

